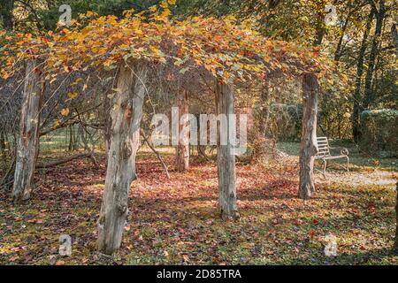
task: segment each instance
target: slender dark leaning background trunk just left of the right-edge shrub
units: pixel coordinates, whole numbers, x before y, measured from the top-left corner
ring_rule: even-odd
[[[352,122],[352,135],[355,142],[359,142],[361,138],[361,131],[359,126],[359,120],[361,115],[361,86],[362,86],[362,75],[364,73],[364,56],[366,51],[366,42],[368,41],[368,36],[371,31],[371,21],[373,19],[373,11],[369,14],[368,21],[366,23],[366,28],[364,30],[364,37],[362,39],[361,49],[359,50],[358,61],[356,64],[356,90],[354,92],[354,107],[353,114],[351,118]]]

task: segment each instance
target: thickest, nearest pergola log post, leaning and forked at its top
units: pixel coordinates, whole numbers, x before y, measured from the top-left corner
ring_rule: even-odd
[[[120,67],[118,93],[111,99],[111,145],[98,219],[98,249],[108,255],[120,247],[128,192],[136,179],[135,155],[140,143],[147,66],[137,62],[132,68]]]

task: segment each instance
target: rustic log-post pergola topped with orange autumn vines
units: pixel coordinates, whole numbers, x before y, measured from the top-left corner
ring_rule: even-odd
[[[136,179],[135,156],[151,65],[169,65],[181,74],[202,72],[212,76],[218,114],[233,113],[235,81],[265,80],[266,74],[272,72],[301,76],[304,96],[298,195],[307,199],[315,191],[318,77],[332,72],[333,67],[321,63],[313,50],[271,41],[249,23],[236,24],[231,17],[171,20],[169,13],[167,5],[146,17],[133,11],[126,11],[123,19],[89,13],[80,16],[80,22],[74,21],[73,27],[60,28],[57,33],[16,37],[1,34],[6,42],[4,55],[0,56],[2,76],[11,76],[18,66],[25,67],[26,73],[12,189],[15,203],[30,197],[43,85],[62,73],[88,72],[93,67],[119,68],[117,93],[111,98],[110,146],[98,220],[98,249],[106,254],[119,249],[122,240],[127,195]],[[232,150],[230,143],[218,144],[218,204],[226,219],[239,217]]]

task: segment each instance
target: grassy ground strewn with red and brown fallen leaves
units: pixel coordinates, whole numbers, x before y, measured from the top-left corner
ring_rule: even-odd
[[[279,149],[297,152],[295,144]],[[162,151],[172,164],[172,149]],[[42,157],[53,158],[47,152]],[[383,185],[317,175],[316,196],[304,202],[296,198],[296,166],[238,164],[241,218],[224,222],[218,218],[214,164],[193,157],[190,172],[171,172],[168,180],[146,148],[138,155],[122,248],[103,257],[96,253],[96,219],[105,167],[103,153],[97,155],[99,169],[75,160],[36,174],[26,205],[11,206],[9,195],[0,193],[0,264],[398,264],[390,251],[394,168],[373,168],[390,173],[392,181]],[[361,158],[353,158],[360,170],[352,174],[371,167]],[[328,233],[338,239],[338,256],[324,255]],[[62,234],[72,237],[72,256],[58,255]]]

